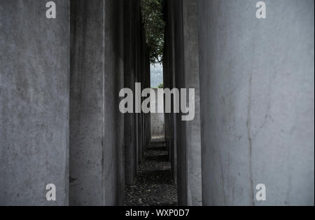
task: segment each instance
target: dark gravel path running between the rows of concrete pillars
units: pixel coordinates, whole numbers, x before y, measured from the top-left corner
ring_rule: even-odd
[[[125,187],[125,205],[175,206],[176,186],[172,180],[171,164],[162,139],[153,139],[139,166],[134,186]]]

